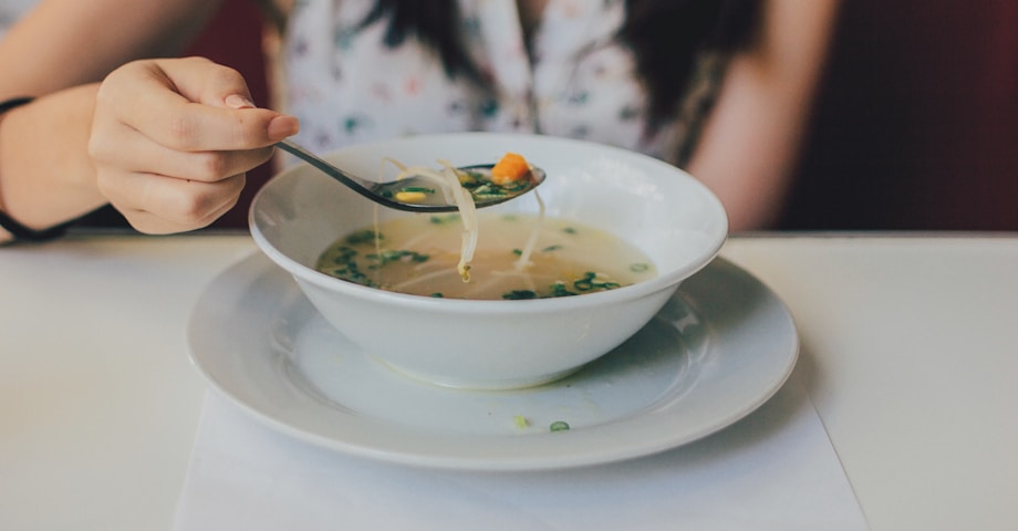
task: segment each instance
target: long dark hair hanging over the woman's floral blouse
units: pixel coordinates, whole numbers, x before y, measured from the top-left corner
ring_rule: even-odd
[[[671,116],[699,51],[731,52],[750,42],[759,0],[626,0],[620,39],[632,48],[652,116]],[[376,0],[361,27],[388,17],[385,44],[416,38],[440,58],[446,74],[488,83],[460,41],[456,0]]]

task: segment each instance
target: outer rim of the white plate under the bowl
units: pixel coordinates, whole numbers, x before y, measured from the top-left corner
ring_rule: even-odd
[[[672,426],[669,423],[657,424],[658,427],[654,428],[655,423],[652,423],[652,419],[675,420],[675,418],[673,418],[674,410],[669,410],[669,406],[664,405],[652,407],[650,408],[651,410],[644,410],[642,415],[598,426],[584,427],[583,429],[571,430],[565,434],[554,434],[554,437],[529,435],[455,435],[456,438],[460,439],[460,442],[467,439],[467,442],[472,442],[475,445],[492,441],[505,442],[511,439],[515,442],[512,445],[515,451],[512,451],[511,455],[485,452],[481,448],[475,448],[474,454],[470,456],[455,455],[455,452],[435,452],[434,450],[422,451],[418,449],[415,451],[414,448],[409,448],[409,444],[405,442],[396,442],[388,446],[355,444],[350,440],[349,437],[345,440],[341,440],[334,436],[301,427],[299,425],[300,423],[295,423],[292,416],[288,418],[279,412],[264,410],[264,408],[258,407],[258,405],[251,404],[240,396],[242,393],[238,393],[236,388],[231,388],[230,383],[224,381],[221,375],[217,374],[216,371],[210,367],[207,356],[211,354],[200,352],[202,346],[200,345],[201,340],[198,335],[200,333],[206,333],[209,326],[214,326],[214,324],[208,323],[207,320],[202,317],[207,317],[206,314],[211,310],[226,310],[222,308],[215,308],[216,304],[225,304],[222,301],[212,300],[215,294],[218,291],[229,292],[240,285],[257,285],[257,281],[272,281],[284,285],[283,290],[285,291],[281,294],[288,296],[303,296],[295,280],[293,280],[290,273],[271,262],[268,257],[258,250],[252,251],[249,256],[239,259],[226,268],[202,290],[188,320],[187,343],[191,364],[215,392],[226,397],[230,403],[240,407],[246,414],[252,416],[266,426],[314,446],[375,460],[437,469],[510,471],[576,468],[648,456],[707,437],[755,412],[769,400],[781,386],[785,385],[791,375],[799,357],[799,337],[794,320],[787,305],[768,287],[764,285],[749,272],[721,257],[715,258],[696,273],[696,275],[683,282],[673,298],[684,296],[688,300],[687,302],[694,306],[709,302],[702,296],[696,296],[695,293],[689,293],[690,285],[695,288],[696,278],[705,274],[729,278],[738,277],[739,279],[736,280],[752,284],[756,292],[766,298],[765,302],[767,302],[767,304],[764,311],[771,313],[771,317],[779,317],[783,321],[783,324],[788,326],[788,330],[783,332],[789,333],[781,334],[781,337],[779,337],[779,340],[788,342],[781,347],[785,352],[777,355],[773,365],[769,367],[771,373],[767,375],[766,381],[761,379],[759,382],[759,389],[751,396],[745,397],[739,407],[730,407],[724,415],[717,415],[713,419],[702,421],[697,426],[697,429],[693,430],[684,430],[682,426]],[[724,303],[721,305],[724,305]],[[703,312],[703,310],[700,311]],[[708,326],[711,325],[709,314],[711,311],[714,310],[707,309],[706,312],[708,312],[708,314],[702,314],[703,320]],[[759,310],[757,310],[757,312],[759,312]],[[263,310],[262,313],[270,312]],[[711,331],[710,334],[710,340],[714,340],[714,331]],[[268,337],[263,339],[268,340]],[[227,337],[225,341],[229,342],[230,339]],[[716,341],[708,341],[708,343],[710,345],[708,348],[715,348]],[[266,345],[264,348],[269,350],[270,346]],[[690,389],[687,389],[687,393],[698,393],[698,387],[702,386],[694,384]],[[703,389],[699,389],[699,393],[703,393]],[[321,407],[324,408],[325,406],[321,405]],[[671,407],[674,409],[675,405]],[[330,413],[334,414],[335,410],[332,409]],[[669,415],[669,413],[672,415]],[[393,437],[392,440],[405,441],[406,439],[401,437],[416,436],[419,441],[422,440],[420,437],[428,439],[433,435],[422,431],[419,427],[395,425],[385,423],[382,419],[356,418],[357,415],[347,415],[347,417],[350,417],[347,421],[351,423],[349,427],[373,429],[375,430],[375,435],[385,435],[387,433]],[[635,427],[635,433],[623,431],[620,434],[620,428],[625,428],[626,426]],[[676,433],[665,433],[671,428],[675,428]],[[655,429],[657,431],[656,434],[653,433]],[[565,435],[565,437],[561,435]],[[634,437],[634,435],[640,437]],[[648,435],[652,437],[646,437]],[[434,439],[435,440],[430,441],[432,445],[440,446],[444,437]],[[578,439],[580,440],[578,441]],[[585,450],[579,451],[576,442],[585,445]],[[607,446],[600,446],[591,449],[589,442],[606,444]],[[534,454],[534,450],[538,450],[538,454]]]

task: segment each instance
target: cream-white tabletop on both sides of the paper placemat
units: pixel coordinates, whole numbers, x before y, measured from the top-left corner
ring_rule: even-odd
[[[206,385],[186,323],[246,235],[0,249],[0,529],[169,529]],[[873,530],[1018,521],[1018,237],[759,235]]]

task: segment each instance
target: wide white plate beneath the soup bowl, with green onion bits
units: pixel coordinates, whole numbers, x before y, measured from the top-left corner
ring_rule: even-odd
[[[786,306],[723,259],[615,351],[522,391],[453,389],[396,373],[340,335],[261,253],[211,282],[188,333],[211,385],[273,428],[351,455],[470,470],[576,467],[681,446],[765,403],[798,355]],[[557,420],[571,429],[551,431]]]

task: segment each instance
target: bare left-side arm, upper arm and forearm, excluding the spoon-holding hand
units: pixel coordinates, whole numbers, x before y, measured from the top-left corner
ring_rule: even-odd
[[[38,100],[0,116],[0,210],[39,229],[107,202],[87,153],[96,85],[82,85],[175,53],[219,3],[42,0],[20,20],[0,41],[0,100]],[[0,229],[0,242],[9,239]]]

